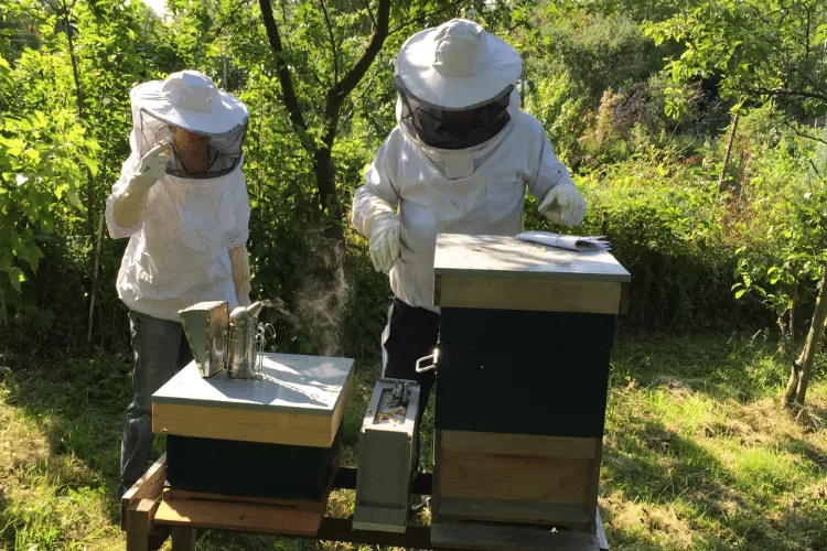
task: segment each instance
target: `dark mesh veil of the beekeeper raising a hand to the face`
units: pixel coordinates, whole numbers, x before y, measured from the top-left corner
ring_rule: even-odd
[[[143,156],[152,148],[168,142],[172,154],[167,162],[167,174],[190,179],[212,179],[233,172],[241,162],[241,148],[247,133],[247,119],[222,133],[204,133],[178,127],[151,112],[140,109],[135,121],[135,139],[138,155]],[[184,130],[196,134],[192,140],[179,138],[175,133]],[[192,137],[191,137],[192,138]],[[191,151],[181,151],[181,148]],[[193,156],[197,162],[187,161]]]

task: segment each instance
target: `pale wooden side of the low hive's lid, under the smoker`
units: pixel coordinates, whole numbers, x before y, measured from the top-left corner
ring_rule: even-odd
[[[333,419],[321,414],[152,404],[152,431],[158,434],[330,447],[335,429]]]

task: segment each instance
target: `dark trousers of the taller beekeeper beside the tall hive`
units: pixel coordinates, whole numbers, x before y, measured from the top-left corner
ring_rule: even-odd
[[[414,307],[394,299],[388,326],[383,338],[383,377],[409,379],[419,383],[418,424],[428,406],[428,397],[437,380],[434,370],[418,374],[417,360],[433,354],[439,341],[439,314]],[[426,363],[427,365],[427,363]],[[417,460],[419,466],[419,432],[417,432]]]

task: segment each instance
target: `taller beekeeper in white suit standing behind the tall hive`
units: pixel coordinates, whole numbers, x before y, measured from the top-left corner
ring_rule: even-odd
[[[415,366],[439,333],[437,235],[519,234],[526,186],[557,224],[576,226],[586,214],[543,126],[519,109],[522,73],[519,54],[472,21],[408,39],[396,58],[397,126],[353,201],[353,224],[395,295],[383,375],[421,385],[420,415],[434,377]]]

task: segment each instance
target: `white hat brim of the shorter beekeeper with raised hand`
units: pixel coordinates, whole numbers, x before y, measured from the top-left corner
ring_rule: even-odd
[[[173,126],[203,134],[228,132],[249,119],[247,106],[233,94],[218,89],[211,111],[191,111],[170,104],[161,90],[163,80],[150,80],[129,93],[133,109],[140,109]]]

